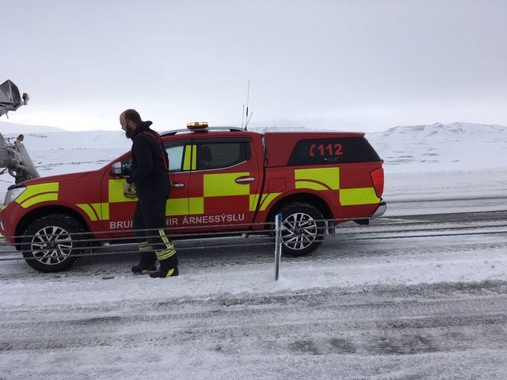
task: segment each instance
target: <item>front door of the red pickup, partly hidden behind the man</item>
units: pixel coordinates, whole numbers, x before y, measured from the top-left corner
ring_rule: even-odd
[[[169,178],[171,179],[171,195],[166,202],[166,223],[169,229],[178,233],[183,217],[188,216],[188,184],[190,183],[191,143],[189,140],[164,142],[169,155]],[[120,232],[132,230],[132,218],[137,205],[137,198],[129,199],[123,193],[125,178],[129,175],[132,158],[128,156],[122,161],[122,175],[105,177],[104,189],[109,217],[104,220],[105,231]],[[104,204],[104,203],[103,203]]]

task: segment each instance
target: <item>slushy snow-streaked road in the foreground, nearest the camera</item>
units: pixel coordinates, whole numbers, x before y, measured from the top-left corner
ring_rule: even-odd
[[[506,301],[493,281],[21,308],[1,363],[6,379],[501,379]]]

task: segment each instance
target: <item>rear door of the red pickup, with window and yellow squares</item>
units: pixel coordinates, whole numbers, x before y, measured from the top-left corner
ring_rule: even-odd
[[[262,186],[259,158],[250,139],[193,139],[192,148],[191,203],[184,225],[199,227],[199,232],[219,225],[228,226],[221,230],[249,229]]]

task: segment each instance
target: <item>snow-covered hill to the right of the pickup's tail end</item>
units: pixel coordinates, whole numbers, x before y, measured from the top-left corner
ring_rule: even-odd
[[[391,173],[507,166],[507,127],[452,123],[366,134]]]

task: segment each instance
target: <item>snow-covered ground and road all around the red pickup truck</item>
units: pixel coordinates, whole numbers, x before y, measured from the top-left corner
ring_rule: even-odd
[[[46,175],[129,148],[121,131],[25,136]],[[160,281],[118,248],[57,274],[0,261],[0,379],[505,379],[506,127],[367,137],[387,214],[283,258],[277,283],[263,239],[176,241],[181,276]]]

